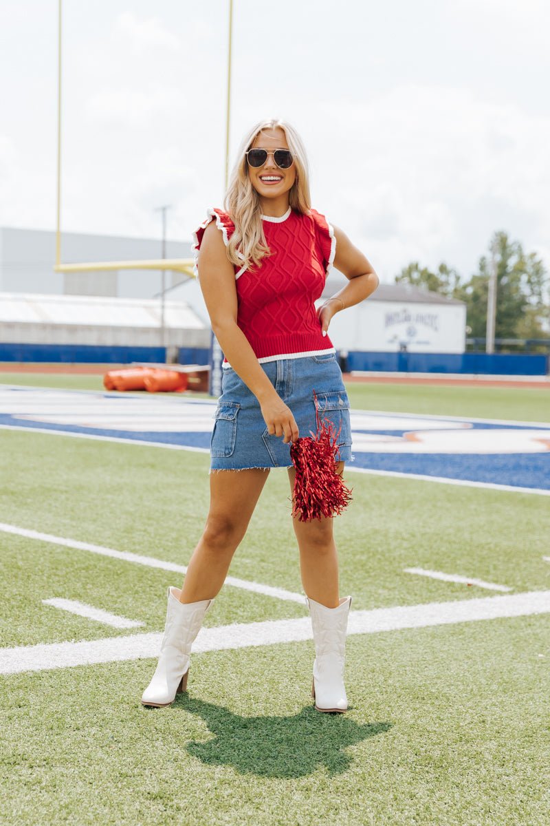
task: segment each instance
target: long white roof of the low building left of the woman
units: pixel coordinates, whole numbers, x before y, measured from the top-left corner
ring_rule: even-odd
[[[98,327],[161,325],[157,298],[55,296],[0,292],[0,323],[63,324]],[[176,330],[204,330],[204,321],[186,301],[164,302],[164,323]]]

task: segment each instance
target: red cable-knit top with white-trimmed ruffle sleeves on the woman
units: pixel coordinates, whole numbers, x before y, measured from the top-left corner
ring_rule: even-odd
[[[206,220],[194,233],[197,277],[204,230],[214,218],[226,246],[235,230],[226,212],[208,210]],[[260,362],[334,353],[328,335],[322,335],[314,306],[336,253],[332,226],[314,209],[303,215],[289,207],[280,218],[261,218],[271,255],[261,259],[252,272],[234,265],[237,325]],[[228,366],[227,359],[224,366]]]

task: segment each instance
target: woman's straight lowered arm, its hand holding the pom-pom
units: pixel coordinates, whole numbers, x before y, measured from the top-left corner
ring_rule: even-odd
[[[237,326],[237,288],[233,264],[225,252],[222,234],[212,221],[204,230],[199,250],[199,282],[210,324],[235,373],[242,378],[260,402],[261,414],[271,435],[284,436],[284,443],[296,441],[298,426],[289,407],[254,354],[240,327]]]

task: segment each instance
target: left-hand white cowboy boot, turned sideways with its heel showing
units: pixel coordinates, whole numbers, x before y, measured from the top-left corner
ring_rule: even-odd
[[[180,591],[168,586],[166,625],[161,653],[153,679],[143,691],[143,705],[170,705],[176,694],[186,691],[191,644],[200,631],[204,615],[214,602],[180,602]]]

